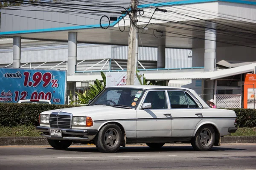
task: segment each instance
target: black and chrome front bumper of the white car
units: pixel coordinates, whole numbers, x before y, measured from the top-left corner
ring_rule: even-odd
[[[94,129],[87,129],[87,130],[82,130],[82,129],[62,129],[62,128],[57,128],[62,131],[62,137],[57,137],[57,136],[50,136],[50,129],[56,129],[52,127],[44,127],[44,126],[37,126],[36,129],[40,132],[43,132],[42,136],[46,137],[47,139],[52,139],[52,140],[72,140],[72,141],[91,141],[96,134],[98,133],[98,130]]]

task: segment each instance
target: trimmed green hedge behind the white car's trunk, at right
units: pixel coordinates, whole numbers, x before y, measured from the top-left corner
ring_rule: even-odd
[[[256,127],[256,109],[227,108],[236,112],[239,127]]]

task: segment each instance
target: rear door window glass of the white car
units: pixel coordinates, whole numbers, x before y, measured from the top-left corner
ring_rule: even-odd
[[[171,108],[199,108],[195,100],[183,91],[168,91]]]

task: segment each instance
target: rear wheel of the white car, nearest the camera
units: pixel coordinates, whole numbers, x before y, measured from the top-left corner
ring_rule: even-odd
[[[192,138],[191,145],[194,150],[208,151],[215,142],[215,131],[210,125],[204,125],[198,129],[195,137]]]

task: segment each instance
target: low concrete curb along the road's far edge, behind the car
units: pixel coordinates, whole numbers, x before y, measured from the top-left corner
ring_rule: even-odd
[[[256,143],[256,136],[224,136],[221,143]],[[49,145],[44,137],[0,137],[0,146],[7,145]],[[80,144],[73,144],[80,145]]]

